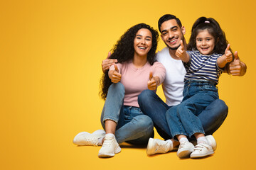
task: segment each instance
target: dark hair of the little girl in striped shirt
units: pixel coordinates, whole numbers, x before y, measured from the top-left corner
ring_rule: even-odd
[[[224,31],[220,28],[220,24],[215,21],[213,18],[206,18],[206,17],[200,17],[196,20],[196,22],[192,26],[191,30],[191,38],[188,42],[188,50],[197,50],[196,49],[196,36],[201,30],[208,30],[208,33],[213,36],[215,40],[215,47],[213,49],[213,52],[216,52],[218,54],[225,54],[225,49],[228,46],[228,40],[225,38]],[[232,52],[232,50],[230,49]],[[226,64],[227,66],[228,64]],[[225,67],[225,70],[228,68]]]

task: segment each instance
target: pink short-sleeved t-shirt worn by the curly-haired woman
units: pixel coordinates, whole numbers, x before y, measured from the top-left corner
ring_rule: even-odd
[[[139,108],[138,96],[147,88],[147,82],[149,81],[149,72],[153,73],[153,77],[160,78],[160,84],[166,77],[166,69],[160,62],[154,62],[150,65],[146,62],[144,67],[136,68],[131,62],[118,63],[119,73],[122,74],[121,83],[124,85],[124,106],[135,106]],[[110,70],[114,70],[114,65],[110,67]]]

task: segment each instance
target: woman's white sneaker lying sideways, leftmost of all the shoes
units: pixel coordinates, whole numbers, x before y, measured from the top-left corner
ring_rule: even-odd
[[[98,146],[100,138],[103,138],[105,134],[104,130],[96,130],[92,134],[80,132],[74,137],[73,143],[80,146]]]

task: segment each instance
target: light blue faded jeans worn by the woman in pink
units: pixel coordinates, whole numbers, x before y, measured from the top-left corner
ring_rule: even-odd
[[[117,123],[115,137],[118,143],[146,144],[154,130],[149,116],[144,115],[140,108],[124,106],[124,86],[112,84],[108,90],[102,110],[101,123],[105,129],[105,120]]]

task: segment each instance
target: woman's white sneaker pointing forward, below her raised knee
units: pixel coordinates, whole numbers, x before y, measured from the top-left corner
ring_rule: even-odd
[[[119,152],[121,152],[121,148],[114,135],[105,135],[105,140],[99,151],[98,157],[114,157],[114,154]]]

